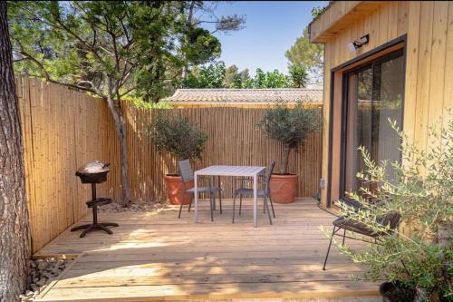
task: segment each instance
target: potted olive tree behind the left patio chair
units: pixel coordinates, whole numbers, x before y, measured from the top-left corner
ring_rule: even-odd
[[[158,114],[149,125],[149,136],[158,151],[168,151],[178,160],[201,159],[207,135],[198,130],[187,119],[182,117],[169,118]],[[171,174],[165,175],[165,184],[172,204],[190,203],[191,194],[180,200],[182,179],[178,175],[177,167]]]

